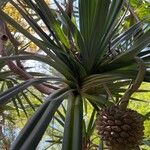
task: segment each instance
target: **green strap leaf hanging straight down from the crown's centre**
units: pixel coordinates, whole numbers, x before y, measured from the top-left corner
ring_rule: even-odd
[[[62,150],[82,150],[82,99],[68,99]]]

